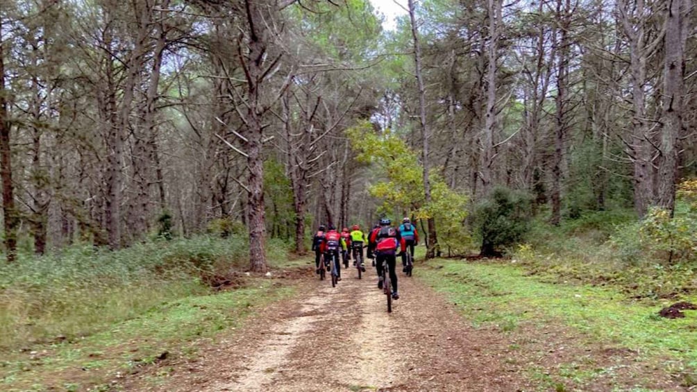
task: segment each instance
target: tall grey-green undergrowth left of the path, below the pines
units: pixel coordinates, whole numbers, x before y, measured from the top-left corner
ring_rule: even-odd
[[[210,292],[246,268],[244,237],[154,241],[120,251],[76,245],[0,265],[0,352],[75,340],[173,299]],[[287,247],[270,242],[270,260]]]

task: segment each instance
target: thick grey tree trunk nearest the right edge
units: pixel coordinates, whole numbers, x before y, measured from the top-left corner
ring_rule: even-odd
[[[685,42],[689,26],[691,0],[669,0],[666,15],[663,130],[661,133],[661,164],[658,178],[658,205],[675,212],[675,180],[680,154],[684,111]]]

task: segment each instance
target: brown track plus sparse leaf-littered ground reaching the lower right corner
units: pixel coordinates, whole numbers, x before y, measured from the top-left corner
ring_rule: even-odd
[[[125,391],[691,391],[638,352],[589,343],[564,324],[473,325],[457,304],[399,274],[386,312],[375,270],[344,271],[337,288],[312,268],[297,295],[256,313],[237,331],[121,379]],[[442,268],[442,267],[441,267]],[[429,271],[427,271],[429,270]],[[420,271],[416,269],[415,275]],[[478,309],[486,312],[487,309]],[[589,375],[590,373],[592,375]],[[564,374],[562,374],[564,373]],[[560,376],[562,374],[562,376]]]

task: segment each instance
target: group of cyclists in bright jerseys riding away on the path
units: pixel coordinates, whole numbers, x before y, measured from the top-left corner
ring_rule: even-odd
[[[369,233],[363,233],[360,226],[353,225],[351,231],[343,228],[339,233],[337,228],[330,224],[328,227],[321,225],[312,239],[312,251],[314,251],[314,263],[316,273],[320,273],[320,268],[330,270],[329,260],[339,260],[342,257],[344,267],[348,267],[348,260],[353,258],[353,265],[360,262],[360,268],[365,272],[363,260],[363,248],[367,247],[367,257],[373,260],[372,265],[376,267],[378,274],[378,288],[383,288],[383,261],[387,262],[390,272],[390,282],[392,282],[392,298],[399,299],[397,293],[397,274],[395,267],[397,256],[401,256],[402,271],[406,272],[406,252],[414,256],[414,246],[419,242],[419,233],[416,226],[411,223],[411,219],[402,219],[401,225],[395,228],[392,221],[388,218],[380,220],[379,224],[373,226]],[[321,260],[324,265],[321,266]],[[358,266],[357,266],[358,267]],[[337,280],[341,280],[341,265],[337,262]]]

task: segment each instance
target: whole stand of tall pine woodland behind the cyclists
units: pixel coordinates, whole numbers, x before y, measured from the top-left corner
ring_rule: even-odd
[[[531,219],[628,209],[694,255],[689,0],[408,8],[383,31],[365,0],[3,1],[8,260],[217,230],[263,271],[266,237],[302,253],[381,214],[429,257],[496,254]]]

